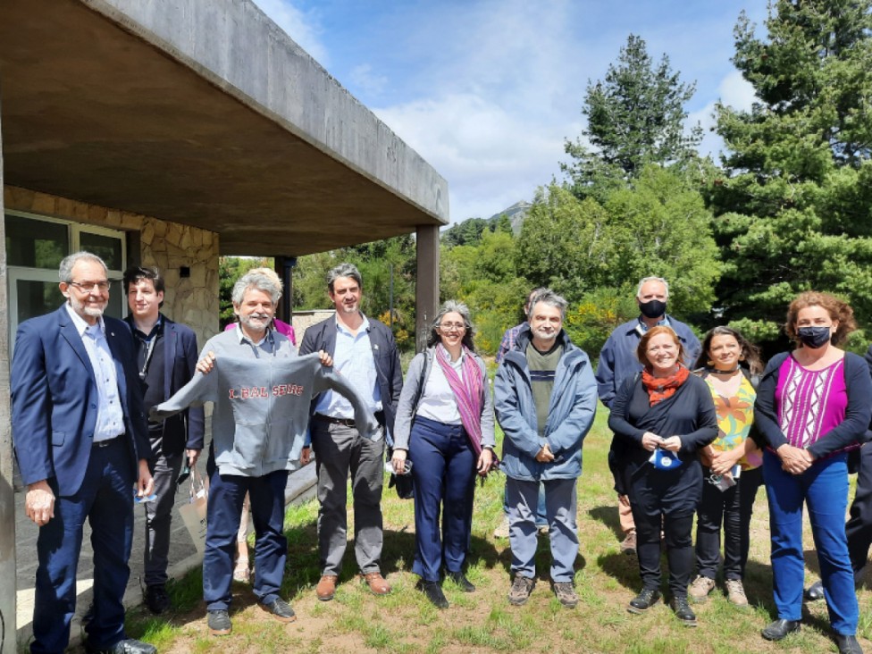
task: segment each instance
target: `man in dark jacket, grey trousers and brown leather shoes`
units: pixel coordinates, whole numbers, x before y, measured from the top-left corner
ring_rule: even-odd
[[[327,274],[327,294],[335,317],[306,330],[300,354],[318,350],[333,358],[333,367],[367,399],[382,430],[391,432],[397,414],[403,371],[397,344],[387,326],[360,311],[363,281],[354,265],[340,264]],[[315,592],[323,601],[333,598],[342,569],[348,530],[346,485],[351,472],[354,492],[355,555],[369,590],[390,592],[381,576],[381,483],[384,440],[369,440],[357,432],[347,399],[326,392],[315,398],[310,423],[318,474],[318,548],[322,577]],[[308,462],[309,449],[301,460]]]

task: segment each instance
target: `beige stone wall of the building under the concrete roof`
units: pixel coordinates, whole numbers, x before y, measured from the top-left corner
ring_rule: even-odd
[[[164,314],[197,333],[202,346],[218,331],[218,234],[196,227],[4,187],[4,208],[130,232],[128,264],[156,265],[164,273]],[[190,276],[180,277],[187,266]]]

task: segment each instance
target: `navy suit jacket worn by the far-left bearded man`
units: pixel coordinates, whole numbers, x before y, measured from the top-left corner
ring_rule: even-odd
[[[133,478],[138,459],[151,458],[133,335],[127,323],[104,317],[115,361]],[[12,366],[13,443],[21,480],[55,478],[58,494],[80,489],[96,426],[94,371],[66,306],[18,328]]]

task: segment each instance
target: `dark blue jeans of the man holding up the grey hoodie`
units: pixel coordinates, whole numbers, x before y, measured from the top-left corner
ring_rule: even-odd
[[[203,554],[203,599],[208,610],[226,610],[231,605],[233,556],[246,493],[251,499],[256,534],[255,596],[264,604],[279,597],[288,558],[288,540],[284,534],[287,485],[287,470],[277,470],[263,477],[222,475],[215,470],[209,478]]]

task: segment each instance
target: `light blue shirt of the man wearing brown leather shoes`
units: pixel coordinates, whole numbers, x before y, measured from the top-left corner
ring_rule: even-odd
[[[351,382],[366,406],[374,413],[381,411],[381,390],[378,375],[375,373],[373,345],[369,340],[369,320],[357,329],[355,336],[340,322],[336,321],[336,349],[333,351],[333,369]],[[331,418],[350,420],[354,418],[351,403],[339,393],[328,390],[323,393],[314,407],[314,412],[329,415]]]

